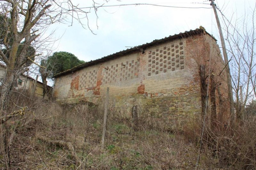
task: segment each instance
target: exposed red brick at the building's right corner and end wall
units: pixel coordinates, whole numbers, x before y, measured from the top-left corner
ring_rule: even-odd
[[[193,82],[200,84],[200,78],[198,74],[199,65],[205,66],[206,71],[206,82],[209,83],[208,90],[208,113],[210,115],[212,105],[211,105],[211,88],[212,81],[209,80],[212,75],[213,81],[215,82],[215,101],[217,107],[217,119],[219,121],[228,120],[229,115],[229,102],[228,102],[228,86],[226,82],[226,72],[223,70],[225,63],[221,57],[220,48],[209,35],[197,35],[190,38],[187,38],[187,65],[188,70],[193,74]],[[202,48],[204,47],[204,48]],[[221,74],[220,74],[221,73]],[[200,92],[200,89],[198,89]],[[206,93],[206,92],[205,92]],[[206,94],[205,94],[206,95]],[[222,104],[220,105],[220,99]]]

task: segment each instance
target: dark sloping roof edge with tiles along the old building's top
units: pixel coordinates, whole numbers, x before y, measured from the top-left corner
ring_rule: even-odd
[[[178,39],[178,38],[179,39],[186,38],[186,37],[189,37],[191,35],[197,35],[197,34],[202,34],[202,33],[206,33],[206,34],[210,35],[215,41],[217,41],[211,34],[207,33],[204,29],[196,28],[195,30],[190,30],[190,31],[185,31],[184,33],[170,35],[169,37],[164,37],[164,38],[159,39],[159,40],[154,40],[152,42],[142,44],[142,45],[139,45],[139,46],[135,46],[133,48],[127,48],[126,50],[119,51],[119,52],[111,54],[111,55],[107,55],[107,56],[102,57],[100,59],[96,59],[96,60],[93,60],[93,61],[90,61],[90,62],[87,62],[87,63],[80,64],[76,67],[73,67],[72,69],[60,72],[60,73],[54,75],[53,77],[56,78],[56,77],[59,77],[61,75],[68,74],[72,71],[80,70],[82,68],[85,68],[85,67],[88,67],[88,66],[91,66],[91,65],[95,65],[95,64],[98,64],[98,63],[109,61],[109,60],[115,59],[116,57],[131,54],[133,52],[140,51],[141,49],[145,49],[145,48],[153,46],[153,45],[161,44],[161,43],[164,43],[166,41],[172,41],[172,40],[175,40],[175,39]]]

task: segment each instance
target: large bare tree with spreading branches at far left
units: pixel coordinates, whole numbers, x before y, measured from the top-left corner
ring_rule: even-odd
[[[92,4],[95,4],[93,0]],[[95,13],[97,8],[94,8]],[[46,42],[44,33],[48,26],[67,22],[72,26],[76,20],[84,28],[91,29],[87,16],[90,8],[86,8],[89,11],[85,11],[79,5],[74,5],[71,0],[0,0],[0,9],[0,60],[7,67],[0,93],[0,116],[4,117],[8,116],[10,103],[14,104],[10,94],[18,77],[28,71],[32,63],[39,66],[42,71],[44,69],[37,63],[45,56],[42,54],[42,50],[45,50],[42,44]],[[31,48],[34,49],[33,53],[28,53]],[[43,84],[46,85],[46,82]],[[1,128],[2,144],[6,169],[10,169],[8,128],[5,128],[4,122],[6,121],[2,121]]]

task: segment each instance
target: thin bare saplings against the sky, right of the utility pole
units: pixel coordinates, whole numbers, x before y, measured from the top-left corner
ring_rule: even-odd
[[[256,4],[241,18],[224,15],[228,55],[232,57],[231,77],[235,96],[236,120],[242,119],[244,108],[256,97]]]

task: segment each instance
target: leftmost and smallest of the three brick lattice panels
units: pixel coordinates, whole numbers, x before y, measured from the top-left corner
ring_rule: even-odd
[[[91,88],[96,85],[97,71],[84,72],[79,80],[79,89]]]

